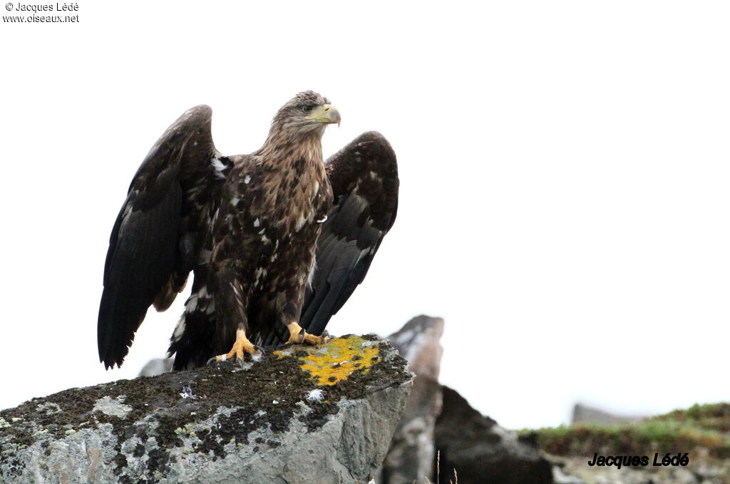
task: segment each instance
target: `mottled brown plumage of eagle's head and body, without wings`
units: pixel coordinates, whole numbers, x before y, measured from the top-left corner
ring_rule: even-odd
[[[305,94],[280,110],[261,150],[231,158],[208,278],[218,307],[218,353],[231,347],[237,329],[255,341],[272,324],[299,320],[318,220],[332,206],[322,158],[326,125],[296,122],[301,107],[328,103]]]

